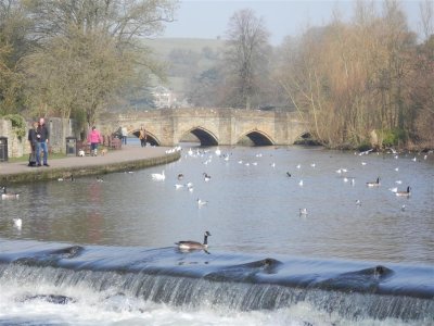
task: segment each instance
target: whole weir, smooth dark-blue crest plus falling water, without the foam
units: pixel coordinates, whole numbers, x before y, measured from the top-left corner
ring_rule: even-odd
[[[318,261],[282,262],[246,256],[243,258],[246,263],[231,265],[233,258],[228,254],[182,253],[174,248],[143,250],[52,243],[44,248],[38,243],[36,248],[27,244],[20,252],[12,249],[13,243],[1,244],[5,250],[0,254],[0,288],[12,283],[59,289],[56,293],[29,293],[22,300],[42,297],[59,304],[74,304],[76,298],[62,293],[62,289],[74,287],[174,306],[217,305],[251,311],[305,302],[353,321],[392,317],[423,324],[434,322],[433,286],[414,285],[406,276],[399,279],[405,271],[400,268],[373,266],[318,275],[315,271],[298,273],[302,267],[311,269]],[[324,265],[322,269],[327,271]],[[354,263],[353,267],[357,265]],[[419,271],[431,272],[432,268]]]

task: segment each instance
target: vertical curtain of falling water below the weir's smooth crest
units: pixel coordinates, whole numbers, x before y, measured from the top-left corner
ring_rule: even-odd
[[[301,302],[317,310],[337,313],[353,321],[363,318],[434,322],[434,301],[406,296],[358,293],[352,291],[297,288],[277,284],[252,284],[213,280],[204,277],[173,276],[158,273],[131,273],[125,271],[68,269],[53,266],[35,266],[29,262],[1,264],[0,288],[3,284],[50,285],[62,289],[74,287],[104,292],[107,296],[126,296],[174,306],[213,308],[237,311],[277,310]],[[52,296],[36,292],[31,296]],[[50,297],[52,298],[52,297]],[[74,302],[75,298],[55,299]]]

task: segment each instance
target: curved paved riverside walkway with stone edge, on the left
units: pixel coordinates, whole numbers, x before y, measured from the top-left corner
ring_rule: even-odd
[[[27,162],[0,162],[0,185],[133,171],[170,163],[179,158],[180,151],[171,151],[169,148],[128,145],[99,156],[66,156],[55,160],[49,158],[48,167],[29,167]]]

